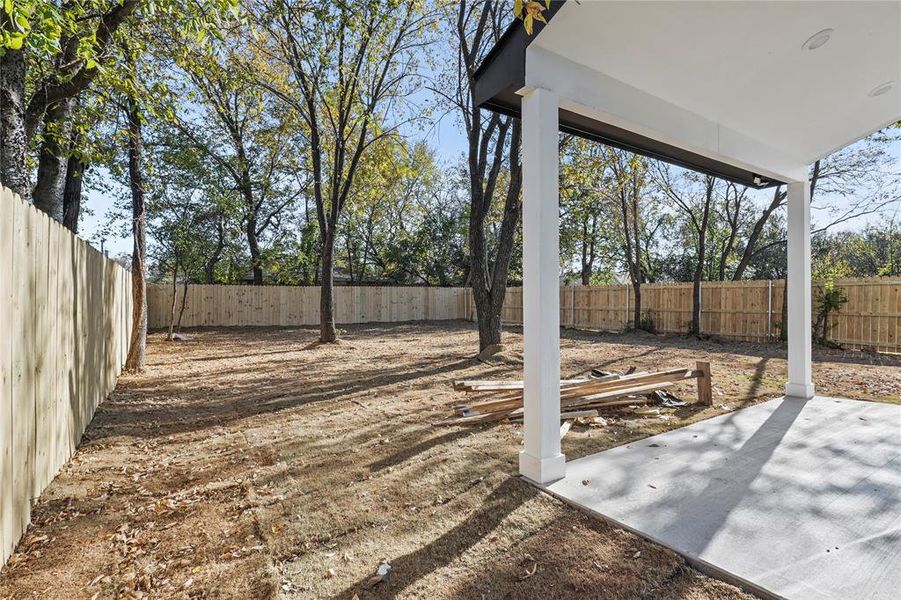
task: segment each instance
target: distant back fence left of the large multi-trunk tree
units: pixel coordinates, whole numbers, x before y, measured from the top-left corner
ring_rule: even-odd
[[[183,289],[176,290],[176,315]],[[169,326],[172,286],[147,290],[151,328]],[[437,287],[338,286],[338,323],[394,323],[464,319],[469,290]],[[297,286],[189,285],[184,327],[318,325],[319,288]]]

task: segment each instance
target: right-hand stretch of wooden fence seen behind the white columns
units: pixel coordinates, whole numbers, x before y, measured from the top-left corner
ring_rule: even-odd
[[[848,302],[830,316],[828,338],[846,348],[901,352],[901,278],[841,279],[835,287]],[[733,340],[768,342],[779,338],[785,283],[775,281],[705,281],[701,283],[701,331]],[[816,298],[823,284],[814,287]],[[646,283],[641,286],[642,317],[661,333],[687,333],[691,325],[691,283]],[[622,331],[632,325],[632,286],[560,288],[560,323],[564,327]],[[522,288],[509,288],[502,319],[522,324]]]

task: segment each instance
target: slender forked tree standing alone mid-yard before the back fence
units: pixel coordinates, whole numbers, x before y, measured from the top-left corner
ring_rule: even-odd
[[[434,22],[428,5],[400,0],[253,3],[271,58],[267,87],[302,123],[320,235],[320,340],[337,339],[335,244],[361,161],[407,120],[422,47]]]

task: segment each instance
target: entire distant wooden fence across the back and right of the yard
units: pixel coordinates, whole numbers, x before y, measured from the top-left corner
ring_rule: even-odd
[[[754,342],[778,339],[782,325],[784,282],[735,281],[701,284],[701,331]],[[901,279],[845,279],[848,303],[831,319],[829,337],[849,348],[901,352]],[[814,286],[814,295],[821,286]],[[686,333],[691,323],[690,283],[641,286],[642,316],[662,333]],[[628,285],[560,288],[564,327],[623,331],[631,325],[635,294]],[[176,293],[180,309],[182,288]],[[171,286],[150,286],[150,327],[169,324]],[[335,288],[338,323],[475,319],[466,288]],[[502,313],[506,324],[522,324],[522,288],[508,288]],[[317,325],[319,288],[289,286],[188,286],[185,327]]]

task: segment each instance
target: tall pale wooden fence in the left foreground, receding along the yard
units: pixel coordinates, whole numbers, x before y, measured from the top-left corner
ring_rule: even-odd
[[[0,565],[116,385],[131,274],[0,188]]]

